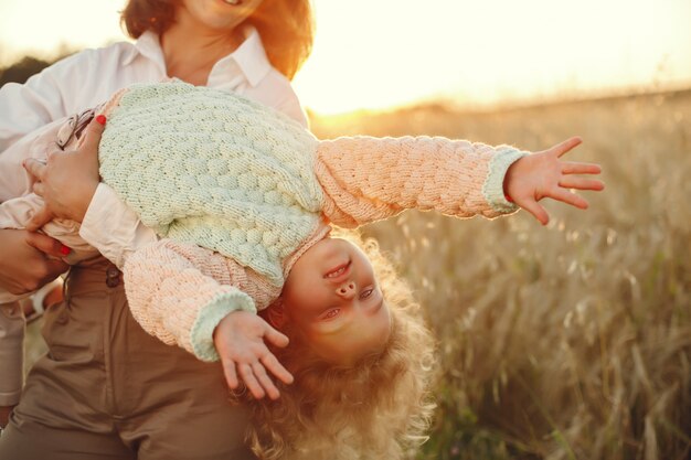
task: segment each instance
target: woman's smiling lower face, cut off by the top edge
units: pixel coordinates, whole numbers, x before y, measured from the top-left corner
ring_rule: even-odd
[[[230,32],[247,19],[262,0],[182,0],[178,20],[187,15],[200,29]]]

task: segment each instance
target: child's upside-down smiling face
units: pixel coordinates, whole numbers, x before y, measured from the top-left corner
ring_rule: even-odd
[[[359,247],[325,238],[294,265],[281,293],[285,314],[317,354],[352,364],[384,347],[391,315],[374,269]]]

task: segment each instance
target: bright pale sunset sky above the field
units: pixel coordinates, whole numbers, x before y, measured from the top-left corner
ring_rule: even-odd
[[[691,0],[313,0],[321,114],[691,87]],[[0,0],[0,64],[126,40],[123,0]],[[78,11],[78,14],[74,14]]]

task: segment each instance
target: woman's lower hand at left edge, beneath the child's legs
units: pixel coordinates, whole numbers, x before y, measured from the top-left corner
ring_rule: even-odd
[[[67,271],[70,249],[41,233],[0,229],[0,286],[13,295],[34,291]]]

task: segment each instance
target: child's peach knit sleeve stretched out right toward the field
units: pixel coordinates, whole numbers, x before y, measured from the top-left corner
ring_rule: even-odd
[[[343,137],[320,142],[315,168],[325,214],[353,227],[405,208],[458,217],[513,212],[503,176],[525,154],[509,146],[442,137]]]

